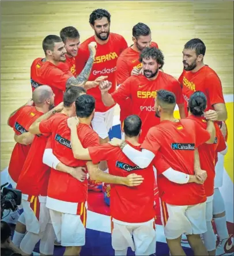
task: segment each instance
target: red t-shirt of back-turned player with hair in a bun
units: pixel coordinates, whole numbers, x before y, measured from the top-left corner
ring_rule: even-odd
[[[203,129],[207,128],[207,123],[205,118],[194,116],[194,115],[190,115],[188,116],[188,118],[197,122],[198,125],[200,125]],[[216,172],[214,169],[215,168],[214,158],[216,154],[217,145],[220,143],[220,138],[222,137],[220,128],[218,127],[217,123],[214,123],[214,126],[216,127],[216,139],[214,143],[213,144],[204,143],[198,147],[201,168],[202,170],[205,170],[207,172],[207,178],[204,182],[204,187],[205,187],[205,192],[207,197],[210,197],[211,195],[214,194],[214,177],[216,175]]]

